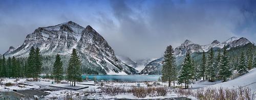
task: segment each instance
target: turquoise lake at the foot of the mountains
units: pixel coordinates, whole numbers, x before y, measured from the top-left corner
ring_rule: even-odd
[[[97,81],[129,81],[129,82],[140,82],[140,81],[158,81],[159,75],[82,75],[82,79],[86,79],[88,76],[89,80],[94,80],[96,77]]]

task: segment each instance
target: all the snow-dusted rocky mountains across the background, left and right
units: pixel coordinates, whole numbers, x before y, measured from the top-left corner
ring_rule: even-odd
[[[186,52],[199,57],[200,53],[208,52],[211,47],[222,49],[227,45],[231,49],[247,44],[254,43],[244,37],[231,37],[224,42],[214,40],[207,45],[185,40],[174,49],[174,55],[176,64],[180,66]],[[76,48],[84,74],[161,74],[163,57],[133,61],[128,57],[116,56],[108,42],[91,26],[83,28],[73,21],[38,28],[27,35],[22,45],[17,48],[10,46],[4,55],[26,59],[32,46],[40,48],[44,63],[42,73],[51,72],[56,54],[61,55],[66,70],[72,49]]]

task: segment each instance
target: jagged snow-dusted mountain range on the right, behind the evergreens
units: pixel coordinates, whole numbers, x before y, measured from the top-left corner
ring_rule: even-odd
[[[219,42],[217,40],[214,40],[207,45],[199,45],[199,44],[193,43],[190,40],[185,40],[184,43],[182,43],[180,46],[174,49],[174,55],[176,56],[176,64],[178,66],[181,65],[186,52],[190,52],[190,54],[202,53],[203,51],[208,52],[211,47],[214,49],[222,49],[224,45],[226,45],[227,49],[230,49],[230,48],[236,48],[239,46],[244,46],[249,43],[254,44],[253,42],[250,42],[248,39],[244,37],[241,37],[241,38],[231,37],[224,42]],[[140,73],[141,74],[161,74],[162,61],[163,61],[163,57],[148,63]]]

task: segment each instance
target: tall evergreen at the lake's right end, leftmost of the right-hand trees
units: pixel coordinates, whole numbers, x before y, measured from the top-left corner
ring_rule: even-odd
[[[162,81],[168,81],[168,86],[170,87],[171,81],[175,86],[175,81],[177,80],[177,67],[175,64],[175,56],[173,55],[174,49],[171,45],[166,47],[164,52],[164,60],[162,62]]]

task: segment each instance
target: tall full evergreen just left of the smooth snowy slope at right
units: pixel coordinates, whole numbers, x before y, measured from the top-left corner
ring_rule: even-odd
[[[221,62],[220,62],[220,69],[219,69],[219,77],[226,81],[228,77],[232,75],[232,70],[229,65],[229,59],[228,59],[228,54],[227,54],[227,47],[224,45],[223,47],[223,55],[221,57]]]

